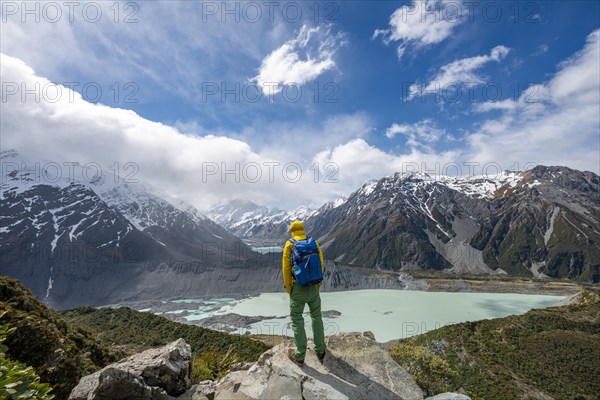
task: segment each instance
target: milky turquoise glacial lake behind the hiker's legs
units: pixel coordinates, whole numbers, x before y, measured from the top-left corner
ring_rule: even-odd
[[[371,331],[379,342],[406,338],[444,325],[523,314],[533,308],[556,305],[564,296],[512,293],[449,293],[387,289],[322,292],[321,309],[325,313],[325,334]],[[236,313],[243,316],[267,316],[245,326],[229,325],[232,333],[277,334],[292,336],[287,293],[263,293],[241,300],[175,300],[186,304],[183,313],[189,323],[201,323],[210,317]],[[195,305],[194,305],[195,304]],[[339,316],[327,316],[335,310]],[[148,310],[150,311],[150,310]],[[308,306],[305,327],[312,335]],[[217,327],[218,328],[218,327]],[[236,328],[232,330],[231,328]]]

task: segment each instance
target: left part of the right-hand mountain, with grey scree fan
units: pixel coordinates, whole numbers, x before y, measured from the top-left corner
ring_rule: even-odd
[[[489,213],[488,193],[481,189],[497,182],[486,183],[397,173],[368,182],[337,207],[320,209],[307,225],[328,257],[342,263],[490,272],[480,252],[467,245]]]

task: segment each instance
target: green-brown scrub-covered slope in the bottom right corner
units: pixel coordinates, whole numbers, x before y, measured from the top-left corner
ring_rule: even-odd
[[[390,348],[429,394],[474,400],[600,399],[600,295],[524,315],[446,326]]]

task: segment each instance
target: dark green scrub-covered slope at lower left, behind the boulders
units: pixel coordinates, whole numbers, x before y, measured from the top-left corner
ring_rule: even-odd
[[[19,281],[0,276],[0,325],[14,328],[7,355],[31,365],[57,399],[67,399],[79,379],[128,354],[185,338],[201,361],[210,357],[255,361],[269,348],[262,342],[199,326],[180,324],[128,308],[81,307],[56,313]],[[215,362],[206,372],[229,367]],[[213,371],[214,370],[214,371]]]

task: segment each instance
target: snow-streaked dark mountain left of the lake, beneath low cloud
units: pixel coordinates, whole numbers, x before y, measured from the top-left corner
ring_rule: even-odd
[[[97,165],[31,161],[15,151],[0,153],[0,163],[0,273],[38,295],[67,296],[72,277],[102,268],[251,254],[193,206]]]

